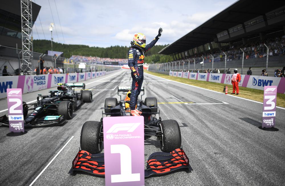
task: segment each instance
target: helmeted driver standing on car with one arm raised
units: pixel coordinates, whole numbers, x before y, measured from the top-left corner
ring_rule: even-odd
[[[130,107],[131,114],[133,116],[139,116],[142,112],[136,108],[138,96],[141,93],[141,87],[143,84],[143,63],[144,53],[153,47],[162,33],[162,28],[158,29],[158,35],[146,45],[146,37],[143,33],[136,33],[133,41],[131,42],[131,49],[128,52],[129,56],[129,67],[131,69],[131,76],[133,78]]]

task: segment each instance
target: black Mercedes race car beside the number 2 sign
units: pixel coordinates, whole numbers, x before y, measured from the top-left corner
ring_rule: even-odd
[[[50,90],[50,95],[38,94],[37,101],[32,104],[23,102],[23,115],[25,127],[61,125],[72,118],[73,111],[82,103],[92,102],[92,92],[84,90],[84,83],[58,84],[58,90]],[[74,88],[81,88],[76,92]],[[28,111],[32,113],[28,115]],[[0,117],[0,124],[9,126],[9,118]]]

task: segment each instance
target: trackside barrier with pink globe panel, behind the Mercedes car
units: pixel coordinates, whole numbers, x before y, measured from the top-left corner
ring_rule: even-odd
[[[119,69],[121,70],[121,69]],[[21,88],[23,94],[44,90],[58,86],[58,83],[74,83],[92,78],[101,77],[114,71],[69,73],[69,74],[47,74],[47,75],[25,75],[0,77],[0,99],[7,97],[7,88]]]

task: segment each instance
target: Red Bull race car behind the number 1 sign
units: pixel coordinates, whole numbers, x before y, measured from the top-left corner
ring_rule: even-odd
[[[113,116],[131,116],[130,93],[131,87],[118,87],[118,95],[121,98],[121,92],[126,95],[124,100],[117,98],[105,99],[105,113],[110,117]],[[159,115],[157,100],[154,97],[145,98],[144,87],[141,89],[143,94],[137,102],[137,109],[144,116],[144,137],[157,137],[160,141],[163,152],[154,152],[147,160],[147,166],[144,173],[145,177],[152,175],[162,175],[177,170],[191,171],[189,159],[181,147],[181,133],[177,121],[169,119],[162,120]],[[84,171],[96,176],[105,175],[104,154],[99,153],[102,150],[103,142],[103,117],[101,121],[87,121],[82,126],[80,136],[80,147],[78,154],[72,162],[70,174],[74,175],[78,171]]]

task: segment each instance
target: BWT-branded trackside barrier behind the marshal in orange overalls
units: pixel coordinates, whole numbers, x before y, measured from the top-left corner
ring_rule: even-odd
[[[231,84],[232,74],[216,74],[216,73],[191,73],[191,72],[169,72],[170,76],[209,81],[223,84]],[[239,86],[264,90],[264,86],[278,86],[277,92],[285,94],[285,78],[241,75],[241,83]]]

